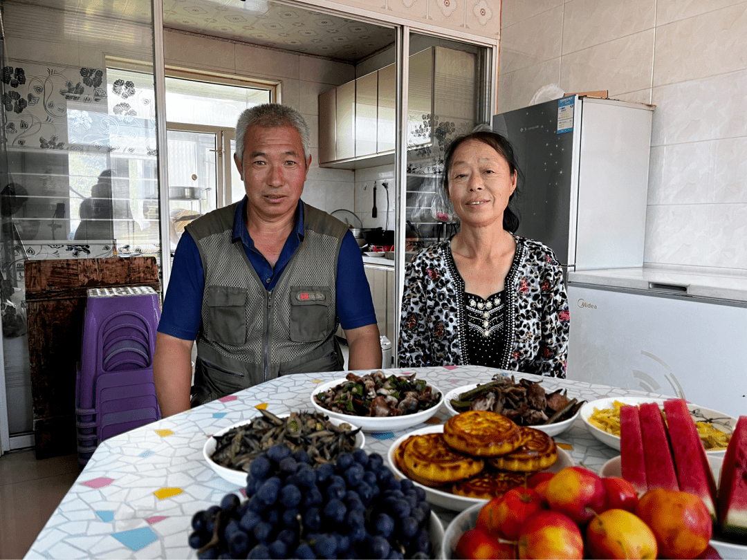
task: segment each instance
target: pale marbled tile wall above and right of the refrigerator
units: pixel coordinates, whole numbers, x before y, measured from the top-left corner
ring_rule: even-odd
[[[647,266],[747,274],[747,2],[503,0],[498,110],[539,87],[652,103]]]

